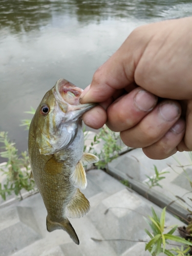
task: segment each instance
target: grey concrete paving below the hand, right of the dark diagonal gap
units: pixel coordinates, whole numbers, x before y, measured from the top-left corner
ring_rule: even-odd
[[[141,148],[136,148],[113,160],[109,164],[110,174],[128,180],[140,195],[160,207],[167,206],[173,214],[186,219],[189,214],[187,208],[192,211],[192,161],[189,154],[177,152],[174,157],[152,160],[143,154]],[[158,182],[162,187],[155,186],[149,190],[146,175],[155,177],[154,165],[159,172],[168,173],[162,175],[165,179]]]

